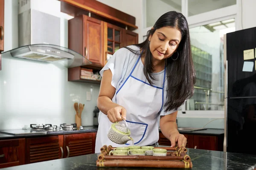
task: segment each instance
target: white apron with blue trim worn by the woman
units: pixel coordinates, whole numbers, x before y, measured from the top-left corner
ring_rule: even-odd
[[[159,139],[159,130],[157,119],[160,111],[163,109],[164,80],[166,68],[164,70],[163,86],[151,86],[136,77],[138,57],[131,73],[125,79],[123,85],[116,92],[116,103],[126,109],[126,122],[131,130],[131,137],[134,139],[134,145],[147,146],[152,145]],[[102,114],[99,120],[99,127],[96,136],[95,153],[100,152],[103,145],[112,145],[113,147],[124,147],[132,145],[132,141],[127,144],[116,144],[108,139],[108,130],[112,122],[107,115]]]

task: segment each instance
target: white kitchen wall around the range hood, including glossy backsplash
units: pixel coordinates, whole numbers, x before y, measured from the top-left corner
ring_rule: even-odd
[[[142,26],[142,1],[101,0],[113,8],[136,17],[136,25]],[[135,2],[138,4],[134,6]],[[61,18],[61,46],[67,47],[67,19],[60,12],[58,0],[32,0],[33,9]],[[5,0],[5,42],[9,51],[18,47],[18,0]],[[140,29],[137,30],[137,33]],[[86,92],[91,100],[86,100]],[[93,125],[93,109],[96,106],[99,85],[68,82],[67,68],[61,65],[32,62],[11,57],[2,58],[0,71],[0,130],[20,129],[30,124],[74,123],[73,103],[84,103],[82,125]]]

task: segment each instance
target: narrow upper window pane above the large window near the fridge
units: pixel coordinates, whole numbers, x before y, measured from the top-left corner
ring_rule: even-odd
[[[189,16],[236,5],[236,0],[188,0],[188,2]]]

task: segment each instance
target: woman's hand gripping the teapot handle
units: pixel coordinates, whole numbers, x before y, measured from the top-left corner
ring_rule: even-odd
[[[122,106],[116,106],[108,111],[107,116],[112,123],[122,121],[122,119],[126,119],[126,109]]]

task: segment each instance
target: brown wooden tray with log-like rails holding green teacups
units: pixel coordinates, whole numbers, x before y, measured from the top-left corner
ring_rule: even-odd
[[[115,147],[104,145],[96,161],[97,167],[160,167],[192,168],[186,147],[154,147],[167,150],[167,156],[113,156],[108,155]]]

